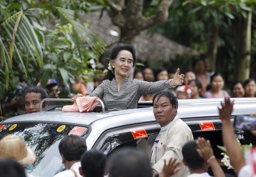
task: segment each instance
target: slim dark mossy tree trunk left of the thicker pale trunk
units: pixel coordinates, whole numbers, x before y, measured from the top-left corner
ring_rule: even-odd
[[[209,70],[216,69],[216,56],[218,51],[218,24],[213,23],[209,28],[208,51],[207,58],[209,59]]]

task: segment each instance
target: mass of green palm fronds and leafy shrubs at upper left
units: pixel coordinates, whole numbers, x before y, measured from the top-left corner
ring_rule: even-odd
[[[36,84],[43,74],[43,83],[56,76],[66,85],[84,74],[88,59],[97,60],[106,45],[86,24],[75,20],[75,12],[87,12],[94,5],[90,1],[1,1],[1,96],[3,90],[9,90],[9,86],[12,90],[20,79]],[[60,18],[61,25],[57,31],[45,32],[43,25],[51,14]]]

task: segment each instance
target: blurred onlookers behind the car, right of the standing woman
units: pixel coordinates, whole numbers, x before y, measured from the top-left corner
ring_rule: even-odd
[[[199,65],[203,65],[199,67]],[[199,99],[199,98],[254,98],[256,94],[255,79],[249,78],[246,81],[235,81],[229,89],[230,94],[224,90],[224,79],[220,73],[206,72],[205,60],[196,62],[195,73],[187,71],[184,77],[184,84],[171,89],[170,91],[177,96],[178,99]],[[201,71],[203,70],[203,71]],[[155,74],[154,74],[155,73]],[[164,81],[172,79],[173,73],[168,73],[167,69],[160,68],[155,72],[150,68],[136,69],[134,71],[134,79],[139,81]],[[154,94],[143,95],[140,101],[152,100]]]

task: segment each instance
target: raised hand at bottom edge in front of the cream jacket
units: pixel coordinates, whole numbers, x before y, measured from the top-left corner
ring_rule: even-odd
[[[179,165],[180,165],[180,162],[177,162],[176,158],[171,158],[168,164],[166,163],[166,159],[164,159],[162,177],[170,177],[176,174],[176,172],[180,170],[180,168],[177,167]]]

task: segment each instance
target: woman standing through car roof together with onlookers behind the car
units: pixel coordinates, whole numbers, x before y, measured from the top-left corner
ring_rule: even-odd
[[[139,68],[139,66],[135,68],[136,60],[135,49],[131,45],[117,44],[110,54],[107,76],[104,73],[97,74],[94,82],[88,83],[77,79],[76,83],[67,88],[61,88],[56,79],[49,78],[44,89],[47,91],[48,98],[64,98],[61,94],[64,90],[68,92],[69,98],[76,93],[97,96],[109,109],[136,108],[138,102],[152,100],[154,93],[163,89],[170,90],[178,99],[254,98],[256,94],[254,78],[244,82],[235,81],[231,88],[225,87],[222,75],[210,73],[208,60],[205,59],[197,60],[193,67],[195,69],[185,74],[180,74],[179,69],[176,73],[170,73],[165,68],[156,70],[148,67]],[[42,81],[39,81],[36,86],[41,84]],[[19,114],[17,108],[23,107],[20,106],[22,101],[26,102],[20,99],[22,97],[20,93],[26,88],[26,84],[20,83],[16,89],[18,91],[15,91],[19,96],[15,96],[11,102],[2,103],[2,112],[13,111],[14,113],[10,113],[10,116]],[[228,88],[228,91],[224,90],[225,88]],[[46,97],[43,96],[43,98]]]

